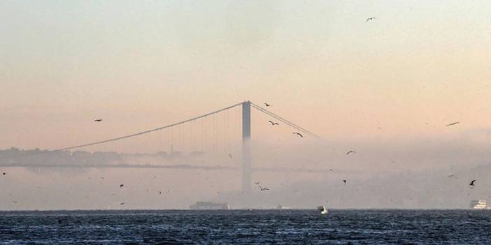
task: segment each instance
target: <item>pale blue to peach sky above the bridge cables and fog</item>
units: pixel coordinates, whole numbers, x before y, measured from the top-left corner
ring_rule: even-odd
[[[0,149],[104,140],[250,100],[320,135],[329,159],[356,148],[404,156],[392,170],[482,163],[489,13],[490,1],[462,0],[0,1]],[[254,121],[258,144],[299,149],[267,126]]]

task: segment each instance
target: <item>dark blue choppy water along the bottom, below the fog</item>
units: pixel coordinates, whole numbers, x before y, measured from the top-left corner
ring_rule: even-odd
[[[491,244],[491,210],[11,211],[0,244]]]

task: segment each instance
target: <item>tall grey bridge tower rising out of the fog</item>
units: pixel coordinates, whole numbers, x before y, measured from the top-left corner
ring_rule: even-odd
[[[242,103],[242,192],[250,193],[250,101]]]

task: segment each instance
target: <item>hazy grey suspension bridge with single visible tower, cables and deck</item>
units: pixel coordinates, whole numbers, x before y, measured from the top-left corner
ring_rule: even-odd
[[[192,131],[192,137],[191,137],[191,144],[195,145],[197,144],[197,137],[195,136],[195,128],[196,126],[194,125],[195,121],[198,120],[204,120],[204,124],[206,124],[206,118],[208,117],[213,117],[216,114],[223,113],[223,112],[228,112],[229,110],[236,110],[237,108],[241,109],[241,166],[237,165],[204,165],[204,164],[183,164],[183,163],[166,163],[166,164],[156,164],[156,163],[146,163],[146,164],[136,164],[136,163],[78,163],[77,161],[73,161],[73,163],[50,163],[45,162],[45,163],[29,163],[27,159],[29,158],[35,158],[36,155],[43,155],[43,154],[53,154],[53,153],[59,153],[59,152],[65,152],[66,154],[69,154],[70,156],[75,156],[80,154],[81,151],[73,151],[73,150],[78,150],[78,149],[87,149],[90,147],[96,147],[96,146],[101,146],[101,145],[107,145],[107,144],[114,144],[117,142],[122,142],[124,140],[128,140],[131,138],[139,138],[142,135],[150,135],[152,133],[159,133],[162,132],[166,129],[171,129],[171,128],[176,128],[177,126],[182,126],[185,124],[192,124],[191,129],[187,131]],[[292,121],[287,120],[283,117],[280,117],[278,114],[275,114],[269,110],[266,110],[264,107],[261,107],[255,103],[252,103],[250,101],[243,101],[241,103],[236,103],[234,105],[222,108],[220,110],[215,110],[213,112],[209,112],[206,114],[202,114],[199,117],[193,117],[191,119],[187,119],[184,121],[179,121],[174,124],[169,124],[166,126],[161,126],[158,128],[153,128],[147,131],[141,131],[138,133],[133,133],[129,135],[122,135],[116,138],[111,138],[107,140],[99,140],[99,141],[94,141],[94,142],[89,142],[86,144],[77,144],[69,147],[61,147],[58,149],[54,149],[52,151],[34,151],[34,152],[25,152],[18,154],[17,156],[8,156],[8,161],[1,161],[1,158],[5,157],[0,157],[0,167],[2,168],[8,168],[8,167],[24,167],[24,168],[164,168],[164,169],[199,169],[199,170],[240,170],[242,173],[241,176],[241,188],[243,193],[250,193],[250,188],[251,188],[251,175],[252,172],[305,172],[305,173],[327,173],[329,169],[317,169],[317,170],[312,170],[308,168],[258,168],[258,167],[252,167],[252,157],[251,157],[251,108],[257,110],[258,112],[262,112],[262,114],[265,114],[267,117],[270,117],[272,119],[275,119],[277,121],[280,121],[281,123],[289,126],[290,128],[294,128],[295,131],[302,133],[302,135],[305,135],[306,137],[311,137],[311,138],[316,138],[320,139],[318,135],[315,133],[312,133],[311,131],[306,130],[305,128],[302,128],[301,126],[294,124]],[[228,114],[227,114],[228,115]],[[216,121],[216,119],[215,119]],[[227,142],[229,139],[228,133],[228,128],[229,128],[229,118],[225,117],[225,121],[227,124],[224,126],[224,128],[227,128],[227,132],[225,132],[224,135],[224,141]],[[218,128],[216,124],[213,125],[213,130],[215,131]],[[189,129],[189,128],[187,128]],[[180,135],[181,138],[183,138],[183,129],[180,130]],[[173,151],[173,131],[171,130],[170,133],[170,138],[171,138],[171,155],[175,152]],[[206,147],[204,146],[206,144],[206,125],[201,127],[201,134],[204,136],[203,142],[201,142],[201,151],[205,151]],[[216,141],[218,136],[215,133],[213,135],[213,148],[216,149]],[[303,137],[302,137],[303,138]],[[161,139],[162,141],[162,139]],[[181,140],[182,143],[183,140]],[[138,142],[139,144],[139,142]],[[225,149],[227,150],[227,149]],[[72,151],[72,152],[71,152]],[[94,150],[92,150],[94,152]],[[134,155],[131,155],[134,156]],[[141,155],[138,155],[141,156]],[[146,155],[143,155],[146,156]],[[153,155],[152,155],[153,156]],[[232,157],[232,155],[230,155]],[[257,165],[257,163],[255,164]],[[338,171],[337,173],[357,173],[354,171]]]

